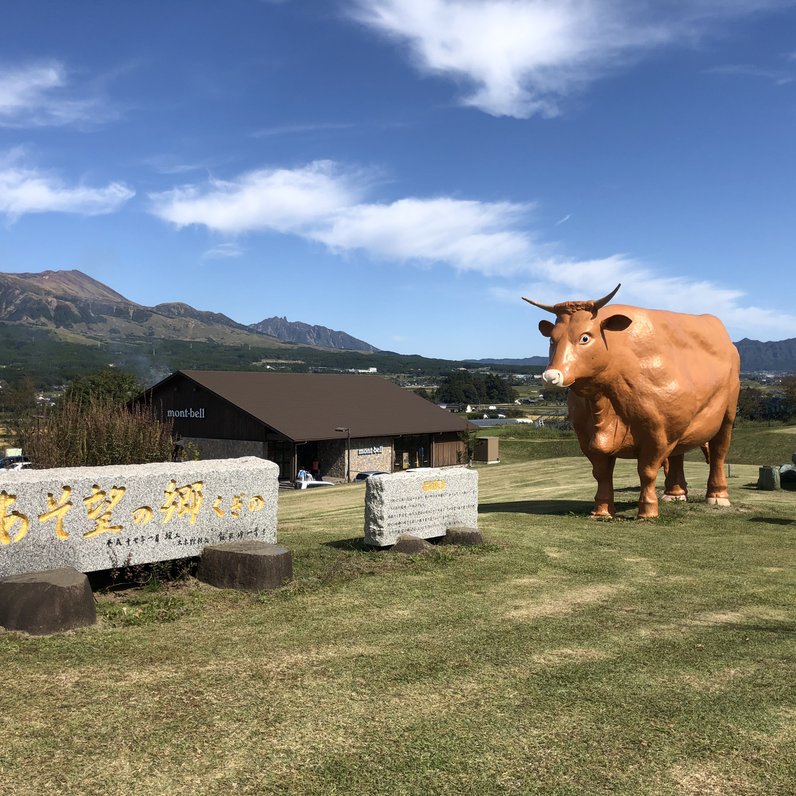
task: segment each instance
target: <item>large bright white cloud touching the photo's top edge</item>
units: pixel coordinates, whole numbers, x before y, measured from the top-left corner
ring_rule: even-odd
[[[352,16],[406,46],[415,67],[469,86],[494,116],[556,116],[562,101],[661,47],[788,0],[349,0]]]

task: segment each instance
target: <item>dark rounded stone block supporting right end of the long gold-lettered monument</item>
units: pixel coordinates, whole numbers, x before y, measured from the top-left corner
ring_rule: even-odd
[[[290,551],[277,544],[232,542],[202,551],[199,580],[219,589],[271,591],[293,577]]]

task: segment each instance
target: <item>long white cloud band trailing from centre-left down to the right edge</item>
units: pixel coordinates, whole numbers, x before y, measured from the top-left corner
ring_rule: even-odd
[[[593,297],[621,282],[623,302],[649,305],[652,292],[659,308],[712,312],[741,334],[796,327],[796,316],[747,306],[743,292],[731,286],[661,273],[628,255],[568,259],[558,244],[534,233],[531,203],[439,196],[377,202],[369,199],[369,178],[330,161],[260,170],[154,194],[152,212],[178,227],[201,225],[235,236],[281,232],[339,254],[359,250],[377,260],[480,273],[496,283],[493,297],[512,304],[522,295],[549,303]],[[236,242],[222,246],[211,250],[215,256],[235,255]]]

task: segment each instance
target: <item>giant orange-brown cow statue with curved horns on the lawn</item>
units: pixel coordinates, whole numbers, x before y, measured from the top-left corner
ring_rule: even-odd
[[[550,338],[546,384],[569,388],[569,418],[597,481],[595,517],[613,516],[617,457],[638,460],[638,516],[658,516],[655,480],[666,465],[664,500],[685,500],[686,451],[707,444],[706,501],[729,506],[724,460],[740,390],[740,362],[722,322],[594,301],[553,306],[539,322]],[[524,298],[524,297],[523,297]]]

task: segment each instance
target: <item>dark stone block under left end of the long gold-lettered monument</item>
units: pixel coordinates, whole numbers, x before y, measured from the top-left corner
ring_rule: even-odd
[[[88,578],[72,567],[0,580],[0,625],[32,635],[60,633],[97,621]]]

